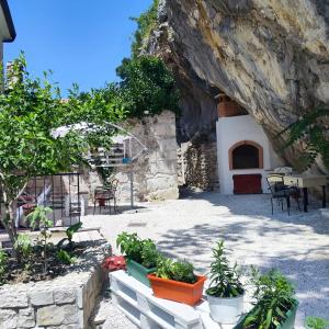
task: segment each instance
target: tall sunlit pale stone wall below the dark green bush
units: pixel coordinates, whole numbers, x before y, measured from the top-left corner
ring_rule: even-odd
[[[148,151],[133,164],[135,200],[178,198],[178,145],[174,114],[163,111],[160,115],[129,120],[126,126],[148,148]],[[136,143],[133,149],[134,154],[137,154],[140,147]],[[120,181],[117,200],[128,201],[131,198],[131,168],[115,169],[112,178]],[[102,185],[102,182],[97,172],[86,172],[81,185],[87,186],[92,196],[95,186]]]

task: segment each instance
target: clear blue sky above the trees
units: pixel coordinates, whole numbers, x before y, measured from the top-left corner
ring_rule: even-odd
[[[16,39],[4,45],[4,61],[25,52],[29,70],[54,71],[64,93],[116,78],[115,68],[129,56],[136,23],[151,0],[8,0]]]

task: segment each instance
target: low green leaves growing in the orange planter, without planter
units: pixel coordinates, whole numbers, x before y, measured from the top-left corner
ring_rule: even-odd
[[[158,277],[174,280],[185,283],[195,283],[196,276],[194,269],[188,261],[173,261],[163,256],[158,258],[157,271],[155,273]]]

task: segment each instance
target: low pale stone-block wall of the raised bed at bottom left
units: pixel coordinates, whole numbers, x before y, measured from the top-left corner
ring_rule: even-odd
[[[93,251],[87,252],[91,259]],[[81,269],[52,281],[0,287],[0,329],[89,328],[106,273],[99,265]]]

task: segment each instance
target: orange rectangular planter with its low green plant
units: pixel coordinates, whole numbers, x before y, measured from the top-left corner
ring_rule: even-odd
[[[186,261],[158,258],[157,271],[148,279],[156,297],[195,305],[202,297],[206,276],[195,275],[193,265]]]

